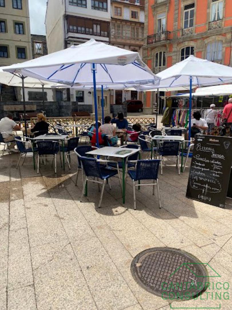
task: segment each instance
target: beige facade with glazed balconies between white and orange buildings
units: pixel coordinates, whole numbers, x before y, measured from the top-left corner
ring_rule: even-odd
[[[110,44],[140,52],[144,42],[144,0],[111,0]]]

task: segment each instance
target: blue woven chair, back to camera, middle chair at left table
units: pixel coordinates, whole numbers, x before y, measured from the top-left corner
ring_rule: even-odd
[[[37,165],[37,173],[39,173],[39,166],[40,166],[40,157],[43,155],[53,155],[52,157],[46,158],[53,158],[55,160],[55,173],[57,173],[57,158],[56,154],[60,151],[60,145],[58,141],[51,141],[51,140],[41,140],[37,141],[37,150],[38,150],[38,165]],[[46,163],[46,160],[45,160]],[[53,163],[52,163],[53,165]]]

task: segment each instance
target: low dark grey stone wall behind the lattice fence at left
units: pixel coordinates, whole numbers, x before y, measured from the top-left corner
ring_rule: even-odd
[[[73,112],[87,111],[92,113],[92,105],[77,104],[77,102],[63,101],[53,102],[45,101],[44,105],[42,101],[27,101],[26,111],[40,113],[46,111],[47,117],[65,117],[72,116]],[[7,113],[12,113],[14,119],[19,119],[19,113],[23,113],[22,101],[0,102],[0,118],[4,117]]]

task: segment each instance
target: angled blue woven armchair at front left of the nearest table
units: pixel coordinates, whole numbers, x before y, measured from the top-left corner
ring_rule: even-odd
[[[99,160],[99,159],[89,158],[89,157],[80,157],[80,160],[81,160],[82,167],[83,167],[83,170],[85,171],[85,176],[86,176],[85,181],[83,182],[83,190],[82,190],[82,196],[81,196],[80,201],[83,200],[87,181],[94,182],[97,184],[102,184],[102,191],[100,194],[100,200],[99,200],[99,205],[98,205],[98,207],[100,208],[106,181],[109,180],[112,176],[115,176],[118,173],[118,171],[114,169],[106,168],[106,167],[103,168],[100,166],[100,162],[110,162],[110,161]],[[94,179],[90,179],[90,177]],[[99,179],[101,179],[103,182],[99,181]],[[109,182],[109,186],[110,186],[110,182]]]

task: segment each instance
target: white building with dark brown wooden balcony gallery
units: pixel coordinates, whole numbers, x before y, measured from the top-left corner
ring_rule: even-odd
[[[48,52],[94,38],[109,43],[110,0],[49,0],[45,17]]]

